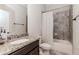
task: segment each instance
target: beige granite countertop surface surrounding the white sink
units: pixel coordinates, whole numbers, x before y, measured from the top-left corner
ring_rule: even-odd
[[[19,39],[27,39],[26,37],[22,37],[22,38],[18,38],[17,40]],[[22,47],[24,47],[25,45],[28,45],[34,41],[36,41],[38,39],[35,39],[35,38],[30,38],[29,41],[25,41],[21,44],[17,44],[17,45],[12,45],[10,44],[11,42],[6,42],[4,43],[3,45],[0,45],[0,55],[8,55]]]

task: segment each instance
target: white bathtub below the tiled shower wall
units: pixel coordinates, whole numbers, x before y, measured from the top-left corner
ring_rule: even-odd
[[[52,45],[52,53],[58,55],[72,55],[72,44],[68,40],[56,39]]]

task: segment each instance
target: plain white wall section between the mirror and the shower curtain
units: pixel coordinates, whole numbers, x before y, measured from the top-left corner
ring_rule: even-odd
[[[28,33],[29,36],[38,37],[41,35],[41,11],[44,10],[43,5],[29,4],[28,8]]]

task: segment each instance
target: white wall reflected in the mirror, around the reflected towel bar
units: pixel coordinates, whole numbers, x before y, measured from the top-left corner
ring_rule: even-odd
[[[14,34],[23,34],[26,33],[26,14],[27,9],[19,4],[8,4],[8,7],[10,7],[15,14],[15,22],[24,24],[22,25],[15,25]]]

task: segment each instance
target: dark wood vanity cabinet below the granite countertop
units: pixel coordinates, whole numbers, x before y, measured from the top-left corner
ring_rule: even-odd
[[[34,41],[9,55],[39,55],[39,40]]]

